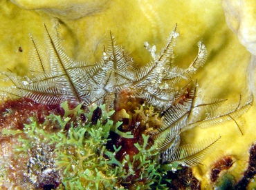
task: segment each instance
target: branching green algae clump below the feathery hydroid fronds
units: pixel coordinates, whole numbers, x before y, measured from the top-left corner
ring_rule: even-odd
[[[164,174],[172,165],[161,167],[152,159],[157,151],[155,146],[147,146],[149,135],[143,134],[142,145],[135,144],[138,154],[133,158],[128,154],[122,160],[117,159],[115,155],[122,147],[113,145],[114,151],[107,149],[109,133],[114,126],[109,119],[113,112],[107,112],[105,105],[101,105],[102,115],[93,125],[92,115],[97,107],[92,107],[87,114],[80,109],[81,105],[73,110],[68,109],[66,102],[62,106],[66,116],[50,114],[42,124],[30,118],[31,123],[25,124],[23,131],[3,130],[4,135],[19,134],[20,143],[14,150],[27,160],[24,164],[28,169],[19,173],[24,172],[25,181],[41,189],[55,189],[61,183],[65,189],[165,189],[168,180],[165,181]]]

